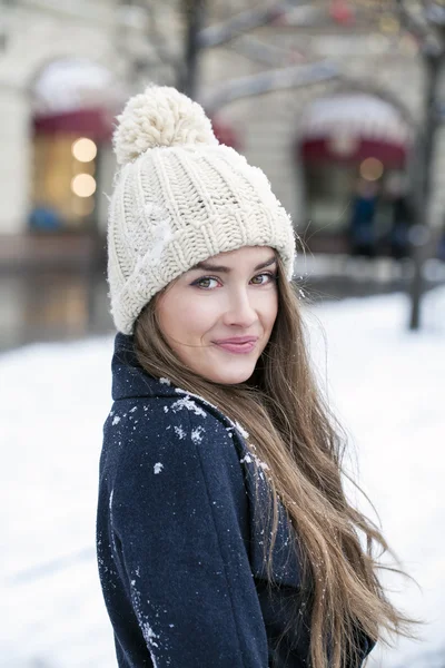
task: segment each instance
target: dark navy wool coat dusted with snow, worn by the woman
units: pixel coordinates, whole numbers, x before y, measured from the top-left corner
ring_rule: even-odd
[[[112,373],[97,552],[119,667],[307,668],[293,530],[280,509],[270,589],[267,480],[261,473],[256,501],[243,429],[147,375],[130,336],[116,337]]]

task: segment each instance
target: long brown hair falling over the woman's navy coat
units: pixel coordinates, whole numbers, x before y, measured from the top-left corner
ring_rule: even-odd
[[[310,592],[313,668],[344,668],[358,655],[357,629],[385,640],[384,631],[409,636],[412,620],[390,603],[377,577],[383,567],[375,548],[387,551],[385,539],[346,499],[343,432],[316,386],[298,298],[277,262],[278,315],[249,382],[222,385],[188,370],[162,336],[158,296],[137,320],[135,351],[147,373],[202,396],[248,432],[257,461],[268,466],[268,572],[279,499],[298,537],[303,588]]]

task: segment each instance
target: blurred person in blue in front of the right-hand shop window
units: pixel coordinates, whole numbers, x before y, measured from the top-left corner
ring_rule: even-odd
[[[375,256],[377,202],[377,184],[360,178],[357,181],[353,198],[348,226],[349,252],[352,255]]]

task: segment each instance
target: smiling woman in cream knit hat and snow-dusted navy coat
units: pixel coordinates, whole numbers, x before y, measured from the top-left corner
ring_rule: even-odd
[[[97,525],[118,664],[359,667],[407,620],[377,579],[384,539],[342,488],[291,222],[175,89],[119,121]]]

